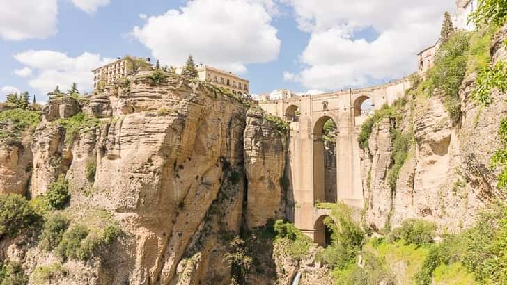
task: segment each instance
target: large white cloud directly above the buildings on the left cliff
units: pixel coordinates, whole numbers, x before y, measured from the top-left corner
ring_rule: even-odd
[[[196,63],[242,73],[248,63],[278,57],[281,42],[270,24],[275,10],[272,0],[194,0],[149,17],[132,35],[164,65],[182,65],[192,54]]]

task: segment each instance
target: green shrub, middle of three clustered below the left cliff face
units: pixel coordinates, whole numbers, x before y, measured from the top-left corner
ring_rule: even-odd
[[[76,225],[68,231],[65,231],[61,242],[56,247],[56,254],[66,261],[67,259],[78,259],[81,255],[80,247],[81,241],[83,241],[90,231],[84,225]]]

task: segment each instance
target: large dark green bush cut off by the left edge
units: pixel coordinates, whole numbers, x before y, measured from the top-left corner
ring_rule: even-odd
[[[22,195],[0,194],[0,238],[40,227],[42,219]]]

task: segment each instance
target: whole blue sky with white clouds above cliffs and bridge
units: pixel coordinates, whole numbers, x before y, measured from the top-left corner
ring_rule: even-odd
[[[318,93],[416,71],[453,0],[0,0],[0,101],[37,101],[116,57],[196,63],[248,79],[250,92]]]

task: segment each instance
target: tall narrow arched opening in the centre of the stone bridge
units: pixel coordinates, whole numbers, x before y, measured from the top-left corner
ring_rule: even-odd
[[[336,122],[321,117],[315,124],[313,139],[313,195],[315,203],[337,201]]]

